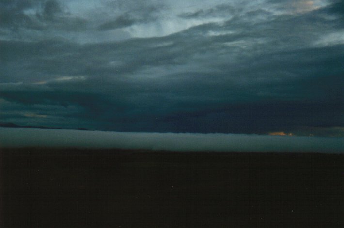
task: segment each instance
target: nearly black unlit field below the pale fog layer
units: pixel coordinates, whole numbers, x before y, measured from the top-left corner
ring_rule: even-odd
[[[1,149],[3,228],[343,227],[344,157]]]

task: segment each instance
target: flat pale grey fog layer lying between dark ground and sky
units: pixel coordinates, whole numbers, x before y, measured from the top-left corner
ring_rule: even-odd
[[[341,153],[341,138],[0,128],[2,147]]]

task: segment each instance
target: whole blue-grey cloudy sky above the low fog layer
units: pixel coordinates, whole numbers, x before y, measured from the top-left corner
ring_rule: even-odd
[[[344,3],[1,0],[0,122],[344,137]]]

